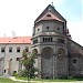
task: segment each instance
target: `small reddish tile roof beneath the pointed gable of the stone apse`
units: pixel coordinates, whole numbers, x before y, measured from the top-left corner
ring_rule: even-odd
[[[51,17],[48,17],[48,15],[51,15]],[[48,12],[45,15],[43,15],[38,21],[41,21],[41,20],[58,20],[58,21],[63,22],[61,19],[59,19],[56,15],[52,14],[51,12]]]

